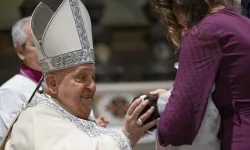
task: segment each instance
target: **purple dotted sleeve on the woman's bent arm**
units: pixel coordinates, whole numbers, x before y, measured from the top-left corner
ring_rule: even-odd
[[[191,145],[198,133],[221,58],[209,33],[196,26],[183,37],[174,87],[158,125],[161,146]]]

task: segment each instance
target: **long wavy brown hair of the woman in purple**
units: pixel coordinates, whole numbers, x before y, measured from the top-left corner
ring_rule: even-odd
[[[233,7],[233,0],[151,0],[151,5],[161,16],[168,40],[179,48],[184,28],[178,24],[174,10],[187,16],[190,28],[209,14]]]

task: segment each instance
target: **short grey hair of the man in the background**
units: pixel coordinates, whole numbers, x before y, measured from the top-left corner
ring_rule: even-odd
[[[27,40],[27,35],[23,31],[23,26],[30,20],[30,17],[25,17],[19,21],[17,21],[11,30],[11,36],[13,40],[13,44],[17,44],[24,48],[25,42]]]

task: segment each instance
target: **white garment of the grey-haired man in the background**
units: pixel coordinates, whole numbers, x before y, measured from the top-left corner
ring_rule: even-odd
[[[36,86],[30,78],[17,74],[0,87],[0,142]]]

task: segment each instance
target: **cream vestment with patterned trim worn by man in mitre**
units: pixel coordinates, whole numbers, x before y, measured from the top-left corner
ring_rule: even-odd
[[[14,124],[5,150],[131,150],[120,130],[79,119],[50,96],[36,93]]]

